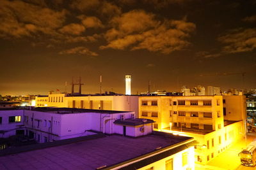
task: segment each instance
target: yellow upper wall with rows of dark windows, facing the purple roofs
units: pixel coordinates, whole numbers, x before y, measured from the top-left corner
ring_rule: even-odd
[[[157,106],[152,106],[152,101],[157,101]],[[185,101],[184,105],[179,105],[179,101]],[[198,101],[198,105],[191,105],[191,101]],[[211,101],[211,106],[204,106],[204,101]],[[147,106],[143,103],[147,103]],[[177,105],[173,104],[177,103]],[[179,111],[185,112],[185,116],[179,116]],[[186,124],[190,128],[191,124],[198,124],[199,129],[204,129],[205,125],[212,125],[212,130],[218,129],[220,124],[223,127],[222,96],[149,96],[139,99],[139,117],[143,117],[143,112],[148,113],[148,117],[158,124],[158,129],[170,128],[170,123]],[[152,112],[157,112],[157,117],[152,117]],[[193,112],[198,113],[198,117],[191,117]],[[212,118],[204,117],[204,112],[212,113]]]

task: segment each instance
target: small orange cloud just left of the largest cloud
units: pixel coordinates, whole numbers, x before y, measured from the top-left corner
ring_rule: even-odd
[[[84,15],[79,16],[79,18],[82,20],[82,24],[86,28],[99,28],[104,27],[97,17],[85,17]]]

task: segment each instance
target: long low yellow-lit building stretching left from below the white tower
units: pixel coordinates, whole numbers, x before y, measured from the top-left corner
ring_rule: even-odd
[[[138,117],[138,96],[68,96],[49,94],[36,97],[36,107],[82,108],[134,111]]]

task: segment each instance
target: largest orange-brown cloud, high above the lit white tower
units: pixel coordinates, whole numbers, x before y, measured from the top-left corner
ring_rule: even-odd
[[[112,28],[104,35],[108,44],[100,49],[145,49],[166,54],[189,46],[186,38],[196,27],[186,20],[156,20],[152,13],[142,10],[123,13],[113,18],[111,24]]]

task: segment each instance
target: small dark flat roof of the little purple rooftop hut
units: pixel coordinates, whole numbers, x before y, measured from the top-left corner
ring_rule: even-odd
[[[143,124],[152,124],[154,123],[154,120],[147,119],[147,118],[134,118],[134,119],[125,119],[125,120],[115,120],[114,124],[119,125],[143,125]]]

